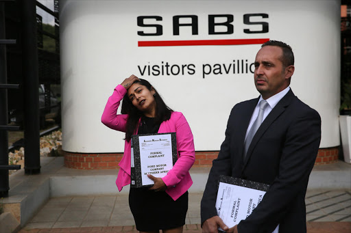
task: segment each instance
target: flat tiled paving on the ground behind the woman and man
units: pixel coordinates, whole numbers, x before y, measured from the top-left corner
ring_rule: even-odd
[[[202,193],[190,193],[184,232],[201,232],[201,198]],[[350,233],[351,189],[308,190],[306,213],[308,233]],[[21,233],[128,231],[136,231],[128,195],[101,195],[51,198]]]

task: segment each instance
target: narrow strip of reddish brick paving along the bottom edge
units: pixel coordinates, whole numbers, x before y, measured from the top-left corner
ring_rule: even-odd
[[[51,229],[31,229],[31,230],[20,230],[19,233],[75,233],[75,232],[138,232],[134,225],[125,225],[117,227],[91,227],[91,228],[51,228]],[[199,224],[186,224],[184,225],[184,233],[201,233],[201,227]],[[307,233],[350,233],[351,222],[328,222],[328,221],[308,221],[307,222]]]

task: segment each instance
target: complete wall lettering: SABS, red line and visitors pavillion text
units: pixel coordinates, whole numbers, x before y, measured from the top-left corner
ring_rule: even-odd
[[[263,19],[269,18],[268,14],[244,14],[243,24],[253,25],[243,29],[243,33],[258,34],[267,33],[269,24]],[[155,37],[163,35],[162,16],[138,16],[137,25],[141,29],[137,31],[138,36]],[[186,20],[187,23],[184,23]],[[260,20],[260,21],[258,21]],[[181,21],[183,23],[181,23]],[[234,29],[233,14],[209,14],[208,15],[208,35],[230,35]],[[170,25],[167,25],[167,27]],[[261,27],[260,27],[261,26]],[[172,17],[173,36],[180,35],[180,27],[191,27],[191,35],[199,34],[199,17],[197,15],[176,15]],[[159,37],[158,37],[159,38]],[[254,39],[255,40],[255,39]],[[240,42],[239,42],[240,41]],[[185,43],[184,43],[185,42]],[[206,44],[208,42],[209,44]],[[265,41],[263,41],[265,42]],[[262,44],[255,42],[256,44]],[[143,41],[143,43],[147,43]],[[246,40],[186,40],[186,41],[154,41],[149,42],[151,45],[146,46],[184,46],[184,45],[234,45],[234,44],[252,44],[250,39]],[[143,45],[139,45],[143,46]],[[138,70],[143,75],[193,75],[196,73],[195,64],[170,64],[168,61],[160,61],[157,64],[138,65]],[[254,73],[254,63],[249,63],[247,59],[234,59],[227,64],[202,64],[202,77],[208,74],[247,74]]]

